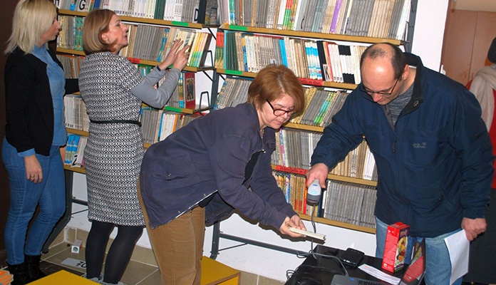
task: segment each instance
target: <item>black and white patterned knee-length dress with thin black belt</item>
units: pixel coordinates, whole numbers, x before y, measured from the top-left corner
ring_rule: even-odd
[[[94,53],[81,62],[79,86],[93,121],[138,120],[141,100],[130,89],[143,80],[127,58]],[[88,219],[125,226],[145,225],[138,202],[143,159],[140,127],[132,123],[90,123],[84,151]]]

